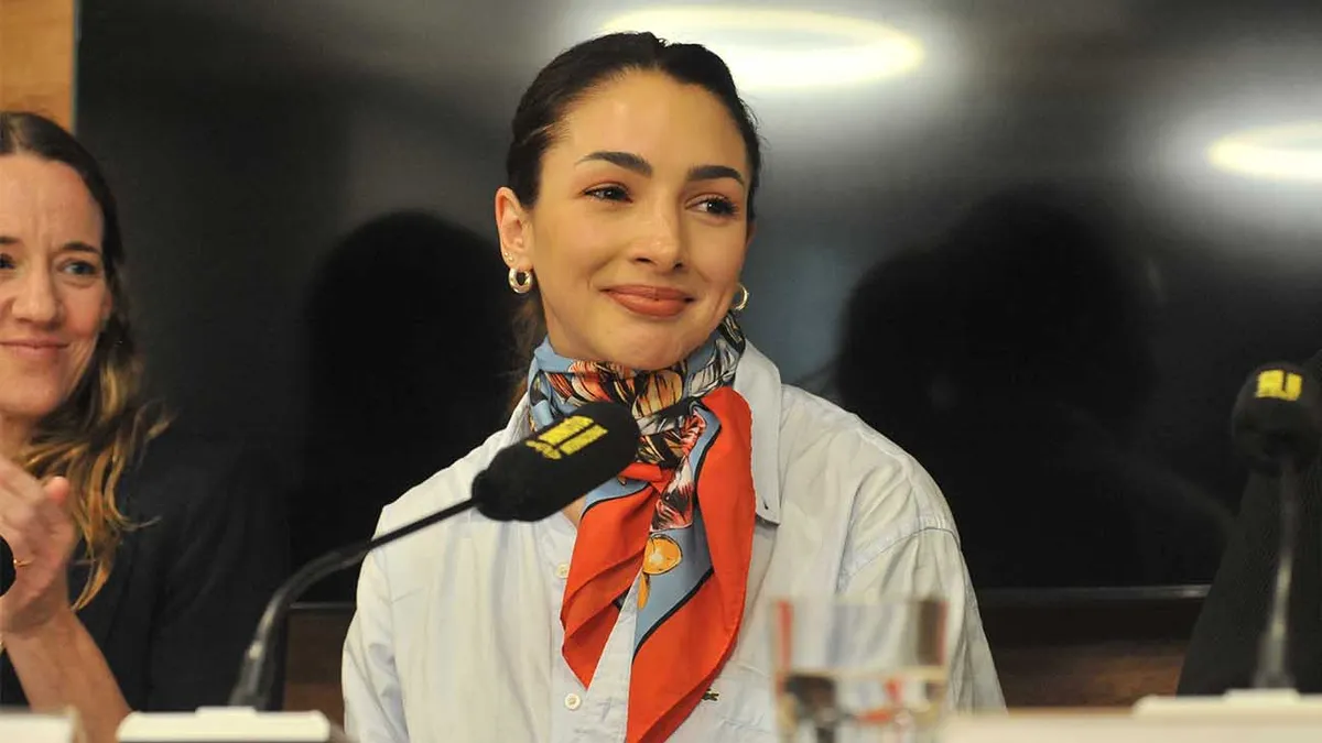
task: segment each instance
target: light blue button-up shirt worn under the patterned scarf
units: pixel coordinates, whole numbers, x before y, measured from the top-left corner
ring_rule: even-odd
[[[767,607],[775,596],[940,595],[948,702],[1002,707],[945,500],[917,463],[858,418],[783,386],[748,346],[735,390],[752,410],[758,522],[735,652],[672,740],[775,740]],[[525,405],[468,456],[386,506],[378,533],[469,496],[527,430]],[[637,583],[583,687],[561,656],[576,530],[557,514],[498,524],[468,512],[373,553],[344,648],[345,728],[361,743],[624,740]]]

